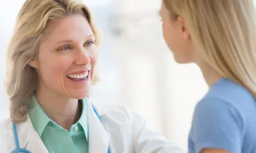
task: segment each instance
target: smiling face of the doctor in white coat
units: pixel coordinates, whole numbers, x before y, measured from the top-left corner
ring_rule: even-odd
[[[81,99],[89,95],[97,61],[91,26],[84,16],[74,15],[49,24],[38,58],[29,65],[38,71],[38,90]]]

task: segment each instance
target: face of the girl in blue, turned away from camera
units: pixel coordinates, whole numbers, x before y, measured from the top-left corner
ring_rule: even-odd
[[[167,46],[173,52],[175,61],[177,63],[193,62],[193,45],[184,19],[182,17],[171,18],[163,1],[160,16],[162,18],[162,35]]]

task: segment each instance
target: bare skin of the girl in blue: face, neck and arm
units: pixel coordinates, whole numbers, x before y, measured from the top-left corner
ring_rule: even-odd
[[[173,19],[170,16],[169,10],[162,3],[160,9],[162,18],[162,32],[167,46],[173,53],[177,63],[196,63],[203,73],[208,86],[212,86],[214,82],[221,79],[218,75],[196,52],[193,42],[190,40],[190,32],[186,25],[186,21],[182,16]],[[225,150],[205,148],[201,153],[229,153]]]

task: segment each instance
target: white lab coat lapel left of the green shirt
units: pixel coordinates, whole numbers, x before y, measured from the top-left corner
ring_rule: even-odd
[[[16,129],[18,133],[18,140],[20,143],[20,148],[29,150],[31,153],[48,153],[44,143],[40,139],[38,133],[33,129],[30,118],[27,118],[27,121],[16,124]],[[16,150],[14,132],[12,128],[12,122],[9,124],[9,135],[11,137],[11,145],[13,150]]]

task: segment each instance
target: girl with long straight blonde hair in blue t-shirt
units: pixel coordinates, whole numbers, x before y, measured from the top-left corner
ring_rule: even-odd
[[[190,153],[256,152],[255,0],[163,0],[163,36],[177,63],[210,87],[195,107]]]

